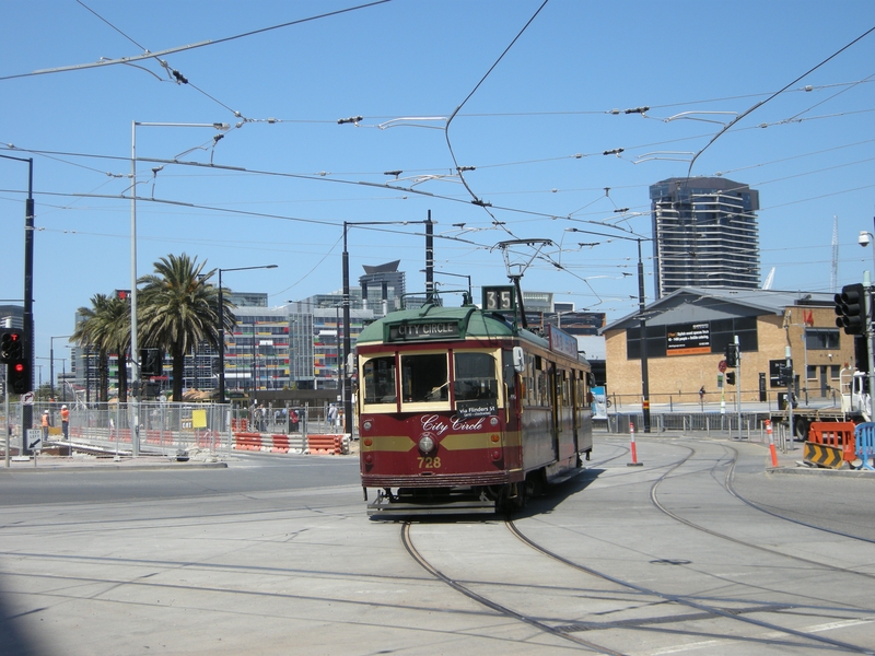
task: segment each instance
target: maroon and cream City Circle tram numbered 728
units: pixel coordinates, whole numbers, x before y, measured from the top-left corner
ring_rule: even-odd
[[[427,304],[357,341],[357,410],[369,515],[506,512],[576,475],[593,448],[590,364],[575,338],[486,309]],[[510,300],[510,301],[509,301]],[[515,309],[515,308],[513,308]],[[515,316],[515,315],[514,315]]]

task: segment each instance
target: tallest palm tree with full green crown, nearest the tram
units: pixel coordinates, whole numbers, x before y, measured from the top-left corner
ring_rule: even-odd
[[[155,272],[138,281],[140,291],[138,320],[143,345],[166,349],[173,362],[173,400],[183,400],[185,356],[201,342],[219,348],[219,288],[209,282],[215,269],[201,273],[206,261],[185,253],[168,255],[154,263]],[[225,329],[236,319],[234,305],[223,298]]]

